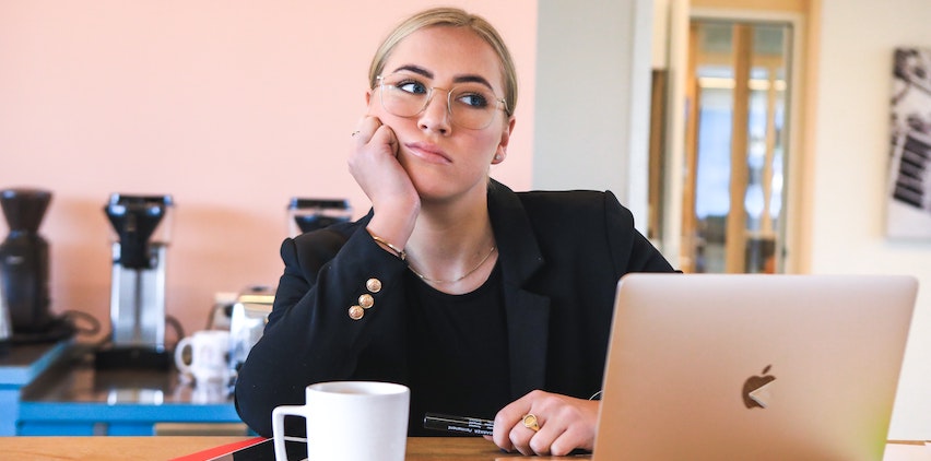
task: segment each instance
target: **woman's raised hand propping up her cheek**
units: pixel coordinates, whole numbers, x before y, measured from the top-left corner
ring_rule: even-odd
[[[420,212],[420,196],[398,162],[394,131],[377,117],[365,116],[352,134],[349,169],[372,201],[373,234],[403,248]]]

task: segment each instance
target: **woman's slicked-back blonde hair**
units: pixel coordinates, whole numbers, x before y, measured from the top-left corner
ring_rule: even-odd
[[[399,43],[417,31],[434,26],[469,27],[475,35],[491,45],[492,49],[498,56],[502,73],[504,74],[506,113],[508,117],[512,116],[514,109],[517,107],[517,70],[514,67],[514,59],[507,49],[507,45],[505,45],[495,27],[484,17],[469,14],[458,8],[433,8],[424,10],[398,24],[385,40],[381,42],[381,45],[372,58],[372,64],[368,68],[369,87],[375,88],[378,85],[378,75],[385,70],[385,61],[388,60],[391,51],[394,50],[394,47]]]

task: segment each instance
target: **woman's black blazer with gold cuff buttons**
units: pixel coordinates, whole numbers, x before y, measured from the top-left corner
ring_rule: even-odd
[[[601,389],[617,280],[673,269],[611,192],[515,193],[492,181],[488,212],[504,279],[512,398],[534,389],[592,395]],[[271,411],[303,404],[309,383],[406,382],[406,264],[364,230],[370,218],[372,212],[282,244],[274,307],[236,382],[237,411],[256,433],[270,436]],[[352,320],[349,308],[366,293],[374,306]]]

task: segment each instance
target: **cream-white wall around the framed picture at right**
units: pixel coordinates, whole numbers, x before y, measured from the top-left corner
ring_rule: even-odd
[[[905,273],[921,293],[889,437],[931,439],[931,241],[884,237],[893,49],[931,47],[928,0],[822,0],[811,271]],[[931,108],[929,108],[931,111]]]

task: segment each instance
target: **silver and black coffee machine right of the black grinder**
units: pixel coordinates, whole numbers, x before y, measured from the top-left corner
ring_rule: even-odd
[[[113,226],[109,344],[97,351],[97,368],[170,366],[165,347],[165,256],[170,237],[172,196],[114,193],[104,206]]]

